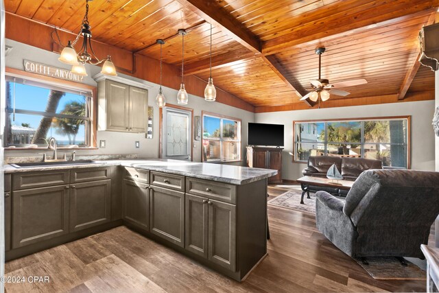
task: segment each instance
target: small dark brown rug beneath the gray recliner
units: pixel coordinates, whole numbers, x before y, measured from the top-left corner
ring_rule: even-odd
[[[410,261],[403,266],[395,257],[367,257],[366,266],[360,259],[355,259],[373,279],[377,280],[425,280],[426,272]]]

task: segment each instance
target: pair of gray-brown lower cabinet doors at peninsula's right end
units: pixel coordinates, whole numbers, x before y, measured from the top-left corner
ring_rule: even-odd
[[[235,272],[236,206],[186,194],[185,248]]]

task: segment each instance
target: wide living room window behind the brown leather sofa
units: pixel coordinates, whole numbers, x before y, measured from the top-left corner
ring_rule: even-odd
[[[379,159],[408,168],[410,116],[340,121],[294,121],[294,161],[309,156]]]

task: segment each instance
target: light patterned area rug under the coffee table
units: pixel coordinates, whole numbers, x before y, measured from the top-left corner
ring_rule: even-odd
[[[316,196],[313,193],[309,193],[311,198],[307,198],[305,194],[303,202],[305,204],[300,204],[300,197],[302,196],[302,191],[299,190],[289,190],[285,194],[276,196],[272,200],[268,201],[268,204],[275,207],[283,207],[285,209],[293,209],[295,211],[304,211],[305,213],[316,214]]]

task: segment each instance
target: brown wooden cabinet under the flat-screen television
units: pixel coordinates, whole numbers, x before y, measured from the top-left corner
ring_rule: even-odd
[[[282,183],[283,148],[247,147],[247,166],[263,169],[275,169],[277,175],[268,178],[268,184]]]

